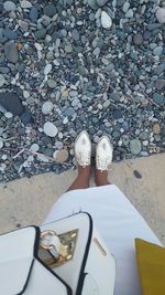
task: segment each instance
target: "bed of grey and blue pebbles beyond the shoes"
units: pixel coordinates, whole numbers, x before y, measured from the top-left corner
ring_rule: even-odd
[[[165,150],[165,1],[0,0],[0,181]]]

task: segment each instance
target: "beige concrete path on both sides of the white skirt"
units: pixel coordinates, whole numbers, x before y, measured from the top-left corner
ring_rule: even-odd
[[[138,170],[142,178],[135,178]],[[0,186],[0,232],[40,224],[76,176],[45,173]],[[165,154],[113,164],[109,179],[128,196],[165,244]],[[92,181],[91,181],[92,185]]]

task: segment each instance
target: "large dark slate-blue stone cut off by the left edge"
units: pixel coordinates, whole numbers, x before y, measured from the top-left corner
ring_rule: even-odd
[[[0,105],[15,116],[23,113],[21,99],[16,94],[0,93]]]

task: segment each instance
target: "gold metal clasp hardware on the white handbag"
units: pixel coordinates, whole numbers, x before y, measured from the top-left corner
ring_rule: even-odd
[[[78,236],[78,230],[73,230],[66,233],[57,234],[55,231],[47,230],[41,233],[40,251],[38,255],[51,267],[56,267],[67,263],[73,260],[76,242]],[[45,243],[44,240],[47,239],[59,239],[58,251],[56,245],[53,243]],[[57,255],[54,255],[54,251]]]

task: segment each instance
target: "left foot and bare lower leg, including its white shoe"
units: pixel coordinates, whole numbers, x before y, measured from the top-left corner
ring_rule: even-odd
[[[81,131],[75,141],[75,158],[78,176],[68,190],[89,188],[91,141],[87,131]]]

